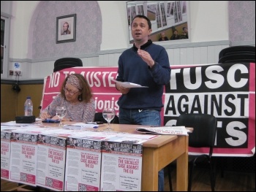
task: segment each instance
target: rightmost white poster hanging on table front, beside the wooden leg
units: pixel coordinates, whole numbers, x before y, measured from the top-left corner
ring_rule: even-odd
[[[142,154],[141,143],[102,141],[100,191],[141,191]]]

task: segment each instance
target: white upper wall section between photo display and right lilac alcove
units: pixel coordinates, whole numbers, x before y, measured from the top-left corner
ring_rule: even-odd
[[[228,40],[227,1],[189,1],[192,42]]]

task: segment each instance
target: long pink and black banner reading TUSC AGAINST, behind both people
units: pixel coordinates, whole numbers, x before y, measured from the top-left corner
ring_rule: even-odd
[[[115,107],[117,67],[74,67],[45,77],[42,109],[60,92],[69,74],[83,74],[94,93],[95,109]],[[207,113],[218,120],[214,155],[252,156],[255,147],[255,64],[171,66],[162,97],[162,125],[176,125],[182,113]],[[189,152],[206,153],[189,147]]]

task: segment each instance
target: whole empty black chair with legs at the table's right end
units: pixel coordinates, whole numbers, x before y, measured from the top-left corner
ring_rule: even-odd
[[[217,131],[217,119],[213,115],[208,114],[184,114],[177,119],[176,126],[192,127],[192,133],[189,133],[189,147],[206,147],[207,154],[189,155],[189,185],[188,191],[192,188],[192,174],[195,165],[199,162],[206,161],[209,166],[211,191],[214,191],[214,169],[212,164],[212,153],[214,149],[214,141]],[[170,152],[171,153],[171,152]],[[169,164],[168,177],[170,191],[172,191],[171,169],[174,164]]]

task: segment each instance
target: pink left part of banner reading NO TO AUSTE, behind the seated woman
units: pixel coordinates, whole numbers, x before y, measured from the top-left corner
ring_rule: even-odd
[[[83,74],[89,82],[94,94],[97,112],[102,112],[104,107],[115,107],[116,112],[119,111],[117,101],[121,94],[116,90],[115,82],[112,81],[116,80],[116,67],[74,67],[50,74],[45,77],[42,109],[45,109],[53,101],[53,98],[60,93],[64,79],[69,74],[74,73]]]

